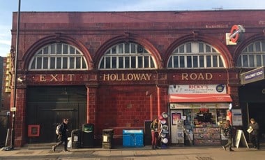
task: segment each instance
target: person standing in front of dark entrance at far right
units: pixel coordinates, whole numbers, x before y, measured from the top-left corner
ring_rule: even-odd
[[[248,128],[253,129],[250,132],[250,141],[257,150],[259,150],[259,124],[255,121],[254,118],[250,119],[250,124]]]

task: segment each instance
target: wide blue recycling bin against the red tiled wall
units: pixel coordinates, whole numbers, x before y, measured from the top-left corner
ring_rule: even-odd
[[[123,147],[143,147],[144,131],[139,130],[123,130]]]

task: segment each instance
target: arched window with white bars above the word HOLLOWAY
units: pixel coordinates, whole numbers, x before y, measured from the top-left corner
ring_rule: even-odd
[[[105,52],[99,69],[153,69],[156,64],[152,55],[136,43],[119,43]]]

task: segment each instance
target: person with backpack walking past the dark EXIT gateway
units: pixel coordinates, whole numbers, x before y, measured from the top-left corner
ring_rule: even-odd
[[[52,146],[52,151],[55,152],[56,147],[64,143],[64,152],[69,152],[67,150],[67,143],[68,143],[68,136],[67,136],[67,131],[68,131],[68,119],[63,119],[63,122],[61,123],[60,129],[59,129],[59,143],[56,145]]]

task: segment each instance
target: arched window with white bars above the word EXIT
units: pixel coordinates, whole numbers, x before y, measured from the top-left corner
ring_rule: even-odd
[[[40,48],[32,57],[29,70],[86,70],[86,59],[73,45],[53,43]]]

